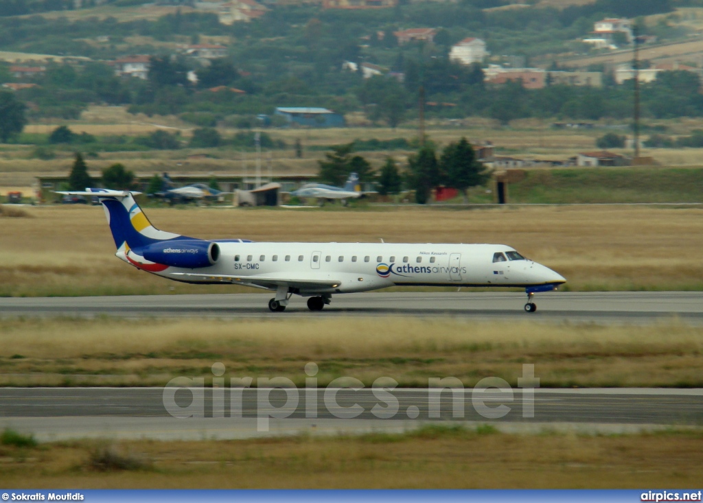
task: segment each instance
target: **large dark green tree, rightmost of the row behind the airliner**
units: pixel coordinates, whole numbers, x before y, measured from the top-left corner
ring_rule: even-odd
[[[458,143],[449,143],[444,148],[439,159],[439,171],[444,174],[448,187],[462,193],[464,202],[468,202],[467,189],[483,185],[490,176],[476,159],[474,149],[466,138],[461,138]]]

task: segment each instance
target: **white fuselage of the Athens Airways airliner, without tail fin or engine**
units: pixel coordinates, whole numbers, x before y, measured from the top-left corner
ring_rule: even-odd
[[[523,259],[503,244],[216,242],[220,254],[212,266],[149,272],[182,282],[271,289],[276,288],[278,278],[289,285],[299,280],[296,293],[302,295],[365,292],[396,285],[533,287],[565,282],[553,270]],[[508,252],[520,258],[508,259]],[[495,261],[496,254],[501,254],[500,261]],[[127,260],[120,252],[117,256]],[[309,286],[306,281],[329,285]]]

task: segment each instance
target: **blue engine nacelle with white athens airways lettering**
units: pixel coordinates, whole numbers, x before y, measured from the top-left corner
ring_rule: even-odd
[[[160,241],[134,251],[150,262],[184,269],[214,266],[220,256],[217,243],[200,240]]]

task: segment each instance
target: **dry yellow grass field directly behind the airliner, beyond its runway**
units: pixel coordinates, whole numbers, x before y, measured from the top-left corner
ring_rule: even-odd
[[[0,221],[1,295],[237,291],[169,282],[115,259],[99,207],[27,211],[36,218]],[[146,214],[157,228],[206,239],[505,243],[562,273],[574,290],[701,289],[703,282],[703,263],[692,260],[703,249],[700,209],[180,208]]]

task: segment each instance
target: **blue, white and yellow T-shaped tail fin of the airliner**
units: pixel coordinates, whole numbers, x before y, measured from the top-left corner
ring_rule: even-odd
[[[125,243],[129,248],[141,248],[157,241],[174,240],[184,237],[179,234],[166,233],[151,225],[151,222],[134,200],[140,192],[127,190],[107,190],[86,188],[85,192],[58,192],[59,194],[97,196],[103,203],[105,216],[108,217],[115,247],[119,250]],[[189,239],[189,238],[186,238]]]

